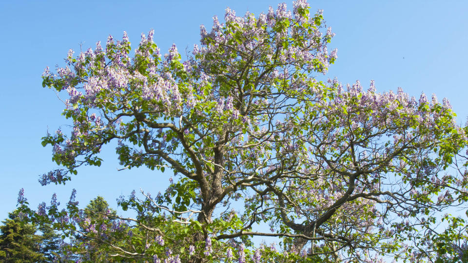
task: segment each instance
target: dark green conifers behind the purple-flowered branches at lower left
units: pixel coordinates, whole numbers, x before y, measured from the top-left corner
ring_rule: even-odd
[[[97,219],[107,211],[115,213],[108,203],[98,196],[84,209],[83,216]],[[34,224],[24,220],[20,209],[8,213],[0,225],[0,262],[102,262],[109,261],[99,247],[99,242],[85,240],[80,236],[65,239],[54,230],[52,224]],[[83,219],[83,222],[85,220]],[[73,250],[73,251],[72,251]]]

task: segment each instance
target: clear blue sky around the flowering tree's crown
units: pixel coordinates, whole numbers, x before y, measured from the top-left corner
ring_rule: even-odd
[[[16,207],[20,188],[32,207],[57,192],[62,203],[71,189],[85,205],[101,195],[116,207],[120,194],[143,188],[157,193],[167,185],[170,173],[146,169],[117,172],[113,146],[103,150],[100,168],[78,170],[66,186],[41,187],[39,174],[57,168],[51,147],[40,138],[70,124],[60,113],[63,105],[53,91],[41,86],[46,66],[63,65],[68,49],[79,51],[105,42],[109,34],[139,42],[141,32],[155,30],[161,51],[176,43],[179,51],[198,43],[199,25],[211,28],[213,15],[224,17],[230,7],[238,15],[247,10],[259,14],[277,0],[236,1],[1,1],[0,2],[0,220]],[[292,1],[287,1],[292,8]],[[327,24],[336,37],[338,59],[328,77],[343,82],[359,79],[377,90],[402,87],[410,95],[421,92],[448,97],[459,122],[468,116],[468,2],[467,1],[331,1],[311,2],[312,11],[324,9]]]

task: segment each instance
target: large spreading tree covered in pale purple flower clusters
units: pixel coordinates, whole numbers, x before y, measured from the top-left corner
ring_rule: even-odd
[[[122,197],[136,218],[89,217],[73,195],[62,211],[41,204],[35,220],[98,240],[117,261],[468,257],[463,219],[445,216],[445,236],[434,230],[439,212],[468,198],[467,128],[447,99],[318,81],[337,57],[327,49],[334,34],[305,0],[258,16],[228,8],[200,35],[186,60],[176,45],[161,56],[151,31],[133,56],[124,33],[46,69],[43,86],[68,96],[73,128],[43,138],[64,168],[42,184],[99,166],[111,141],[123,167],[179,179],[156,197]],[[254,247],[254,236],[278,237],[281,247]]]

